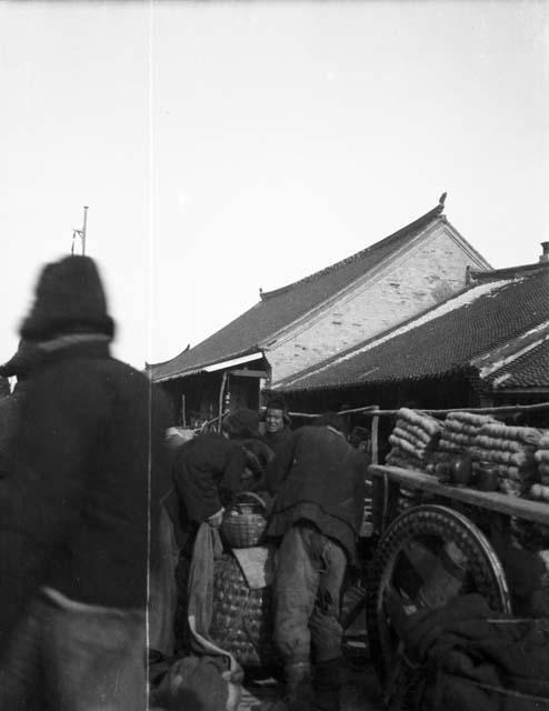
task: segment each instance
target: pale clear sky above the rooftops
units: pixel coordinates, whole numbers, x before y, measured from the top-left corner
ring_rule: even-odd
[[[538,261],[548,53],[549,1],[0,0],[0,361],[84,204],[137,368],[443,191],[493,267]]]

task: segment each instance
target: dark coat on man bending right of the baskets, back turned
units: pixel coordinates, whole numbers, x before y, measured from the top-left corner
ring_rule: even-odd
[[[330,427],[303,427],[292,433],[268,467],[276,494],[270,535],[306,519],[356,555],[366,495],[365,458]]]

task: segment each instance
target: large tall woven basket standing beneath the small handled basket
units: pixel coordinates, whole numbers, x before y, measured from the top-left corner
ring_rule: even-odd
[[[232,554],[216,560],[210,637],[244,668],[272,668],[272,585],[251,590]]]

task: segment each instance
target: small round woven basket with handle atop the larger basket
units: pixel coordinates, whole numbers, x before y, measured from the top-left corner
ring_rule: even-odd
[[[247,500],[246,500],[247,499]],[[221,535],[230,548],[259,545],[267,528],[266,503],[252,491],[237,494],[221,523]]]

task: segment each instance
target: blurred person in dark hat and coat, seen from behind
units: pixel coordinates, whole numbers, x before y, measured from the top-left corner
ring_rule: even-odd
[[[0,708],[147,708],[148,573],[158,565],[169,410],[110,354],[96,263],[47,264],[22,322],[26,375],[0,494]]]

